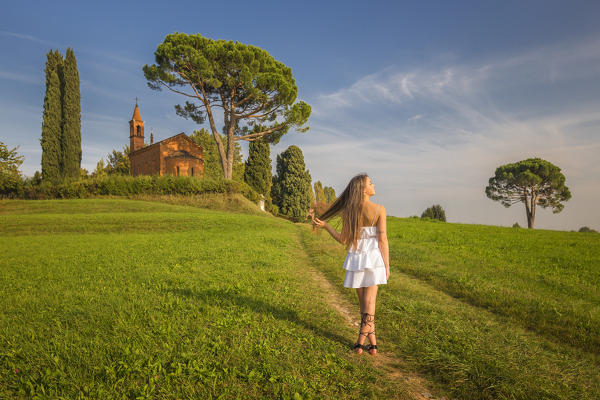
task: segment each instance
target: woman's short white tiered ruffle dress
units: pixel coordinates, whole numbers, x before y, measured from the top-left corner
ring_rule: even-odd
[[[344,269],[344,287],[359,288],[387,283],[385,263],[377,241],[377,227],[363,226],[356,249],[348,250]]]

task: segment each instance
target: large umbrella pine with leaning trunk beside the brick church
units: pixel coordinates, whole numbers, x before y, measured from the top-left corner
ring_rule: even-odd
[[[277,143],[292,127],[308,130],[303,125],[311,108],[296,102],[291,68],[261,48],[176,32],[165,37],[154,55],[156,64],[143,67],[148,86],[191,99],[175,106],[178,115],[198,124],[208,119],[225,179],[232,179],[236,141]],[[215,107],[223,110],[227,140],[219,136]]]

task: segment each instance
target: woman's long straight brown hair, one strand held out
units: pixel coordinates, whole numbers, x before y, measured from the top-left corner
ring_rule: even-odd
[[[360,237],[360,217],[367,176],[362,173],[350,179],[340,197],[319,217],[320,220],[325,221],[342,214],[341,236],[347,249],[356,248],[356,242]]]

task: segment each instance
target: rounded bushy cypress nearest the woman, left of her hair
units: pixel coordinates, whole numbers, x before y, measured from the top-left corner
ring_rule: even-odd
[[[302,221],[310,207],[312,178],[305,168],[304,155],[297,146],[290,146],[277,156],[271,196],[279,213],[292,221]]]

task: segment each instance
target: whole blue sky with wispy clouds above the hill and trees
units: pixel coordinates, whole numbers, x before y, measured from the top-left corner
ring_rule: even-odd
[[[341,191],[368,172],[396,216],[442,204],[452,222],[526,225],[485,196],[497,166],[541,157],[573,198],[536,227],[600,228],[598,2],[28,2],[0,15],[0,141],[40,169],[43,68],[72,47],[82,93],[82,166],[128,144],[139,98],[156,140],[197,129],[141,70],[165,35],[237,40],[290,66],[313,107],[292,132],[314,180]],[[246,146],[244,146],[244,150]]]

